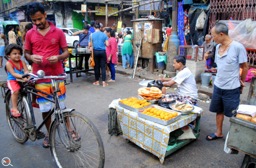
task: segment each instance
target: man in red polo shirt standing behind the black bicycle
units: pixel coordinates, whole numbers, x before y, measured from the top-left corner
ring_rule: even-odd
[[[29,62],[33,62],[33,71],[44,70],[45,76],[58,76],[63,73],[61,60],[69,57],[67,41],[61,29],[56,28],[53,23],[46,21],[46,12],[41,3],[33,2],[28,4],[28,13],[34,26],[26,34],[25,40],[25,58]],[[59,48],[62,54],[59,55]],[[47,59],[46,59],[47,58]],[[35,85],[36,89],[51,94],[52,84],[49,79],[41,79]],[[64,80],[60,80],[61,108],[65,108],[65,84]],[[50,97],[48,97],[50,98]],[[50,113],[52,103],[42,98],[37,98],[43,119]],[[51,118],[45,123],[49,133]],[[73,136],[72,136],[73,137]],[[43,147],[48,146],[48,134],[43,142]]]

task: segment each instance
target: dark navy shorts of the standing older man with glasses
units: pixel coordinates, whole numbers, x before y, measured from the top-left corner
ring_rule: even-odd
[[[210,111],[214,113],[224,113],[227,117],[232,117],[236,114],[232,113],[233,110],[239,105],[240,89],[235,88],[232,90],[221,89],[214,85],[213,95],[210,104]]]

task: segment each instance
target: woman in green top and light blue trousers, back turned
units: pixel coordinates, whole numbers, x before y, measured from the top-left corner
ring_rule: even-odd
[[[133,68],[133,35],[132,32],[127,31],[124,37],[123,49],[122,49],[122,61],[123,69],[127,68],[127,59],[130,64],[130,68]]]

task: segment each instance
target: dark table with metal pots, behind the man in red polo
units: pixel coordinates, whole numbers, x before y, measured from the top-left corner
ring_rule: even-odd
[[[73,82],[73,76],[72,76],[73,73],[76,73],[76,77],[78,77],[77,73],[79,73],[79,72],[86,73],[86,72],[89,72],[89,71],[94,71],[94,69],[87,69],[87,70],[78,70],[77,69],[77,66],[78,66],[77,58],[79,58],[79,57],[87,57],[88,58],[90,56],[91,56],[91,52],[69,53],[68,61],[69,61],[69,69],[70,69],[70,71],[69,71],[69,73],[70,73],[70,82]],[[72,67],[71,67],[71,58],[76,58],[76,68],[75,68],[74,71],[72,70]],[[85,62],[85,64],[86,64],[86,62]]]

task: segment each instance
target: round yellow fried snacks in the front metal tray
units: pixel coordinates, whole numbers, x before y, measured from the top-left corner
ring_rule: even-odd
[[[167,111],[163,111],[163,110],[151,108],[151,107],[143,109],[142,114],[146,114],[148,116],[152,116],[165,121],[170,120],[178,115],[177,112],[170,113]]]

